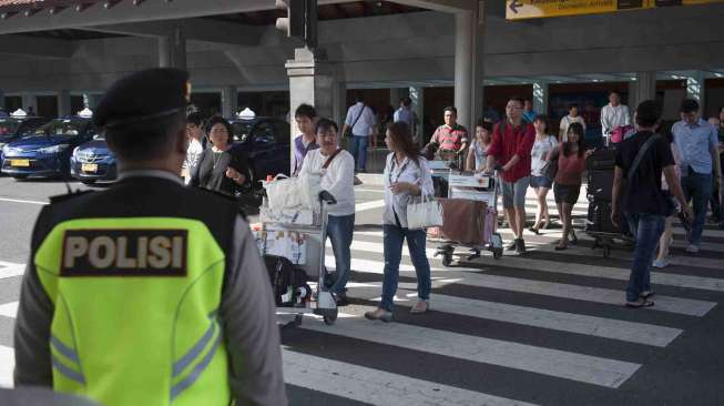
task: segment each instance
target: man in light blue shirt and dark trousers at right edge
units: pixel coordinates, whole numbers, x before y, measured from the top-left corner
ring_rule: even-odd
[[[722,181],[716,129],[698,115],[698,102],[686,99],[681,106],[682,120],[671,129],[681,154],[681,185],[686,201],[693,201],[694,221],[686,252],[695,254],[704,231],[706,204],[712,194],[712,176]]]

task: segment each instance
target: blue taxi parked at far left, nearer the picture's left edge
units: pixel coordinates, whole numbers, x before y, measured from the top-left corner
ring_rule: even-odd
[[[73,149],[91,141],[94,134],[90,116],[54,119],[2,148],[2,173],[14,179],[68,176]]]

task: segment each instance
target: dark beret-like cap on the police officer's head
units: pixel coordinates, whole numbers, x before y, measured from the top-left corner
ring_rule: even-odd
[[[188,72],[155,68],[113,83],[95,108],[98,126],[115,126],[185,111],[191,98]]]

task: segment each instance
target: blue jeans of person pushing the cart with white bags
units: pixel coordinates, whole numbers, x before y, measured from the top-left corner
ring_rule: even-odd
[[[355,215],[329,215],[327,221],[327,236],[332,241],[332,251],[335,253],[335,275],[329,276],[332,286],[329,292],[347,292],[347,280],[351,268],[351,237],[355,233]],[[324,261],[324,258],[320,258]]]

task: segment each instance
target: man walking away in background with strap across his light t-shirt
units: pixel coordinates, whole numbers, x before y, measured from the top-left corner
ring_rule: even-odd
[[[373,148],[377,148],[377,130],[375,113],[365,104],[361,94],[355,97],[355,104],[347,110],[347,118],[341,133],[346,134],[351,130],[349,140],[349,153],[355,159],[355,168],[358,172],[367,172],[367,146],[371,136]]]

